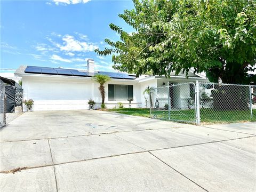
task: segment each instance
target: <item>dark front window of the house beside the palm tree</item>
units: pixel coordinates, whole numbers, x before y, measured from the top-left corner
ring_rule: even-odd
[[[108,85],[108,100],[123,101],[133,99],[133,85]]]

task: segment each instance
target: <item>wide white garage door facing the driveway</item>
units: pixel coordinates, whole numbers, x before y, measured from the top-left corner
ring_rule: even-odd
[[[33,99],[33,110],[88,109],[92,83],[79,81],[28,81],[27,98]]]

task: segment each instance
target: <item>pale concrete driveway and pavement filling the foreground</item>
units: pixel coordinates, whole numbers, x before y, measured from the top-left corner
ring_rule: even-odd
[[[255,191],[255,123],[35,111],[1,130],[0,191]]]

